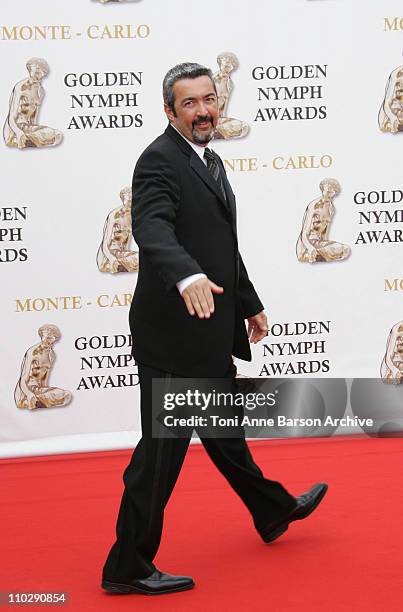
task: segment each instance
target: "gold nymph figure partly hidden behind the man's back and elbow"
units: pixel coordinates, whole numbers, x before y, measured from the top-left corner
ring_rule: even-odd
[[[132,190],[124,187],[120,192],[122,205],[114,208],[106,218],[102,242],[97,253],[100,272],[137,272],[138,252],[130,248],[132,241]]]

